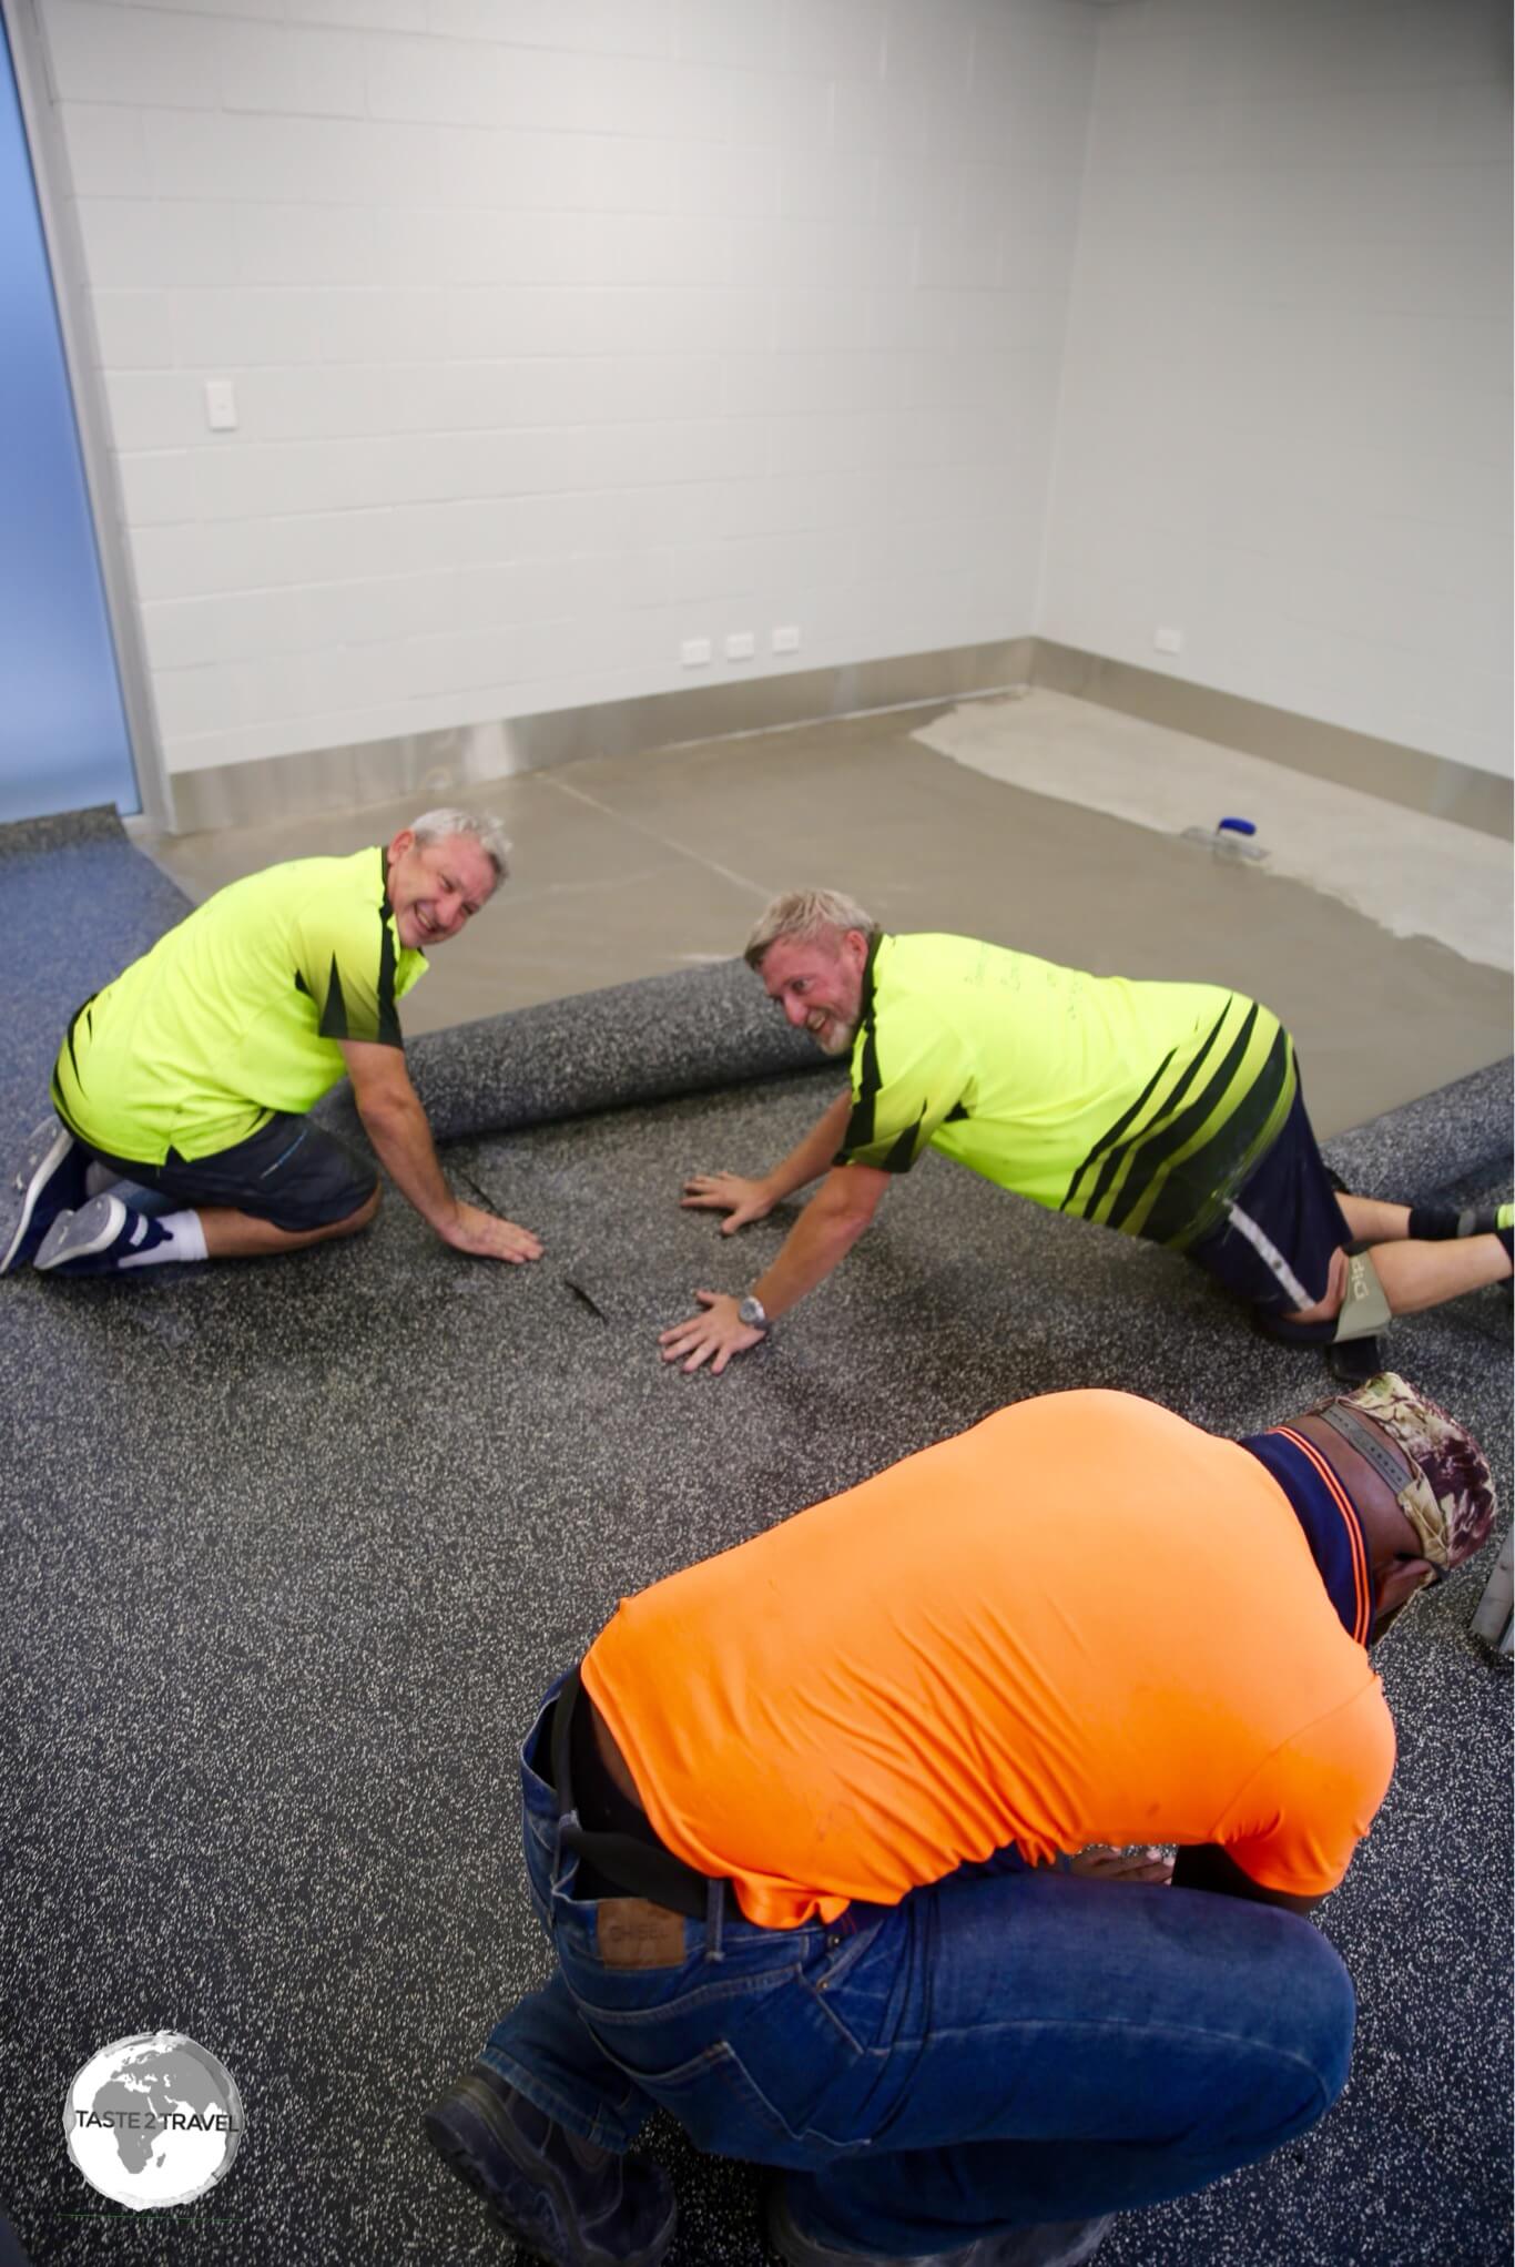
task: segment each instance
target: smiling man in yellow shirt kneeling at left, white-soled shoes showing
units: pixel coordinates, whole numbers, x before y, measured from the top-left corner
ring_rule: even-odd
[[[492,818],[429,812],[388,848],[270,866],[218,891],[86,1000],[0,1211],[0,1274],[252,1258],[365,1229],[379,1181],[304,1115],[347,1072],[404,1197],[456,1251],[535,1260],[458,1204],[406,1072],[399,1000],[506,873]],[[181,1211],[136,1211],[136,1183]]]

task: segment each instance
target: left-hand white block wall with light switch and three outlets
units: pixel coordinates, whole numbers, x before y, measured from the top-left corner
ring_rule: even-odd
[[[1032,628],[1084,0],[39,18],[170,771]]]

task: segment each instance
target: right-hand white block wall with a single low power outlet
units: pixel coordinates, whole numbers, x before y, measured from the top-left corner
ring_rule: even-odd
[[[1109,9],[1043,635],[1510,773],[1508,45],[1504,0]]]

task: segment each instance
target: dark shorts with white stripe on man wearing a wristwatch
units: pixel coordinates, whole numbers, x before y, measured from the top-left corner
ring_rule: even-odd
[[[1188,1245],[1188,1258],[1266,1315],[1288,1315],[1324,1299],[1331,1254],[1349,1242],[1300,1088],[1277,1140],[1232,1197],[1229,1217]]]

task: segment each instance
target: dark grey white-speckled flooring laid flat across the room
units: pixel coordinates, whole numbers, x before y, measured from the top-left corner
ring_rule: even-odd
[[[179,905],[104,837],[0,857],[0,893],[14,1138],[68,1009]],[[1406,1154],[1420,1127],[1417,1172],[1492,1190],[1504,1088],[1474,1086],[1413,1106]],[[508,2260],[417,2113],[544,1972],[513,1741],[617,1596],[1023,1394],[1120,1385],[1245,1430],[1318,1392],[1195,1270],[937,1158],[773,1344],[665,1372],[658,1324],[785,1231],[723,1242],[680,1174],[767,1161],[826,1095],[776,1075],[474,1134],[451,1163],[544,1236],[533,1270],[390,1202],[297,1260],[0,1283],[0,2206],[36,2267]],[[1363,1140],[1395,1156],[1393,1122]],[[1393,1338],[1506,1501],[1508,1338],[1499,1292]],[[1381,1653],[1399,1771],[1322,1911],[1361,1993],[1343,2104],[1123,2222],[1111,2267],[1508,2260],[1510,1696],[1465,1635],[1492,1548]],[[247,2140],[202,2204],[122,2215],[66,2158],[64,2088],[154,2027],[229,2063]],[[757,2267],[755,2176],[655,2147],[674,2267]]]

